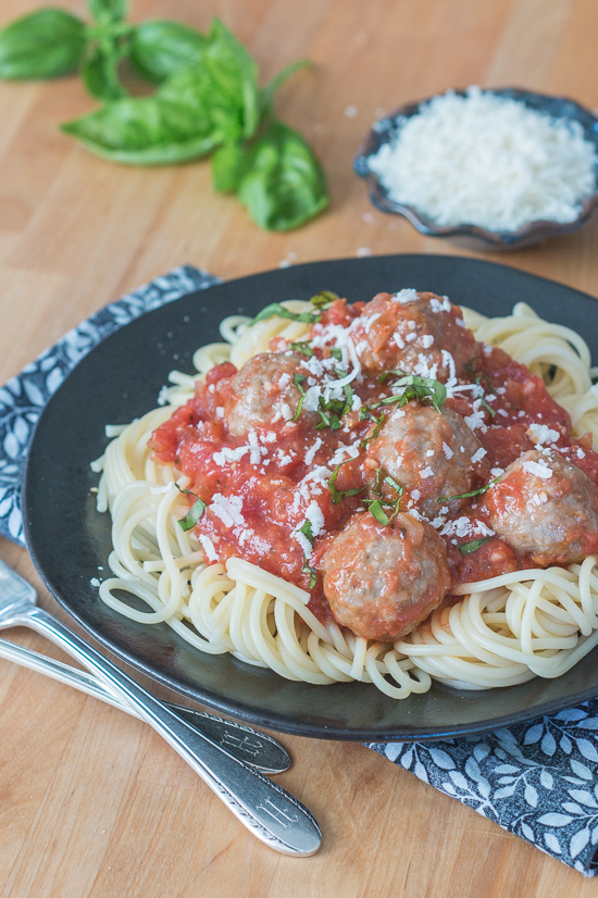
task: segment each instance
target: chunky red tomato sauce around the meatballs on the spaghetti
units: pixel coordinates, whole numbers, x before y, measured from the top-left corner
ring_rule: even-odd
[[[312,327],[311,337],[331,325],[350,328],[364,305],[347,305],[344,300],[337,300],[324,312],[319,325]],[[468,337],[471,339],[471,334]],[[275,352],[288,348],[281,338],[271,345]],[[320,346],[313,356],[328,360],[331,347]],[[153,456],[159,462],[174,463],[177,473],[190,478],[189,488],[208,503],[196,532],[204,549],[209,546],[209,561],[242,557],[308,589],[312,596],[310,608],[321,620],[328,620],[331,611],[322,586],[322,558],[351,515],[358,509],[364,510],[363,500],[371,495],[367,489],[372,488],[372,470],[371,464],[365,463],[365,446],[379,422],[379,410],[384,410],[378,407],[363,420],[357,406],[363,408],[389,397],[389,385],[381,383],[377,376],[356,377],[351,390],[360,402],[356,400],[356,408],[345,411],[336,429],[306,427],[299,410],[291,409],[294,420],[281,416],[276,420],[273,415],[263,426],[256,426],[248,438],[233,435],[227,427],[225,410],[236,401],[236,374],[229,362],[212,369],[204,383],[198,383],[194,398],[153,433],[150,440]],[[546,425],[555,448],[598,485],[598,454],[591,449],[590,438],[572,437],[569,414],[525,365],[500,349],[475,344],[474,354],[459,384],[478,384],[484,390],[482,403],[475,391],[465,389],[448,398],[446,407],[465,419],[472,415],[475,419],[475,435],[495,472],[491,476],[498,476],[497,471],[500,473],[523,452],[533,449],[534,433],[540,433],[538,428]],[[531,426],[536,428],[532,435]],[[350,458],[351,454],[354,458]],[[335,463],[331,462],[333,458]],[[354,490],[359,492],[346,495]],[[306,526],[313,502],[319,511],[310,527],[317,534],[311,539],[308,563],[306,542],[297,537],[297,531]],[[452,519],[488,523],[478,496],[471,497],[449,514],[449,524]],[[537,566],[498,536],[478,540],[479,546],[473,549],[471,536],[452,533],[443,538],[447,544],[452,587]]]

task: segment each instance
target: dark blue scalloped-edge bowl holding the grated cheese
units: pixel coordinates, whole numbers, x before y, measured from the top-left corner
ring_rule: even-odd
[[[461,97],[464,97],[466,93],[465,90],[456,90],[454,92]],[[494,93],[497,97],[506,97],[511,100],[519,100],[528,107],[528,109],[547,113],[553,119],[568,119],[569,121],[578,122],[583,128],[585,138],[589,140],[596,149],[597,160],[595,162],[595,170],[598,184],[598,119],[593,115],[589,110],[565,97],[549,97],[545,93],[535,93],[532,90],[520,90],[515,87],[503,87],[485,90],[484,92]],[[433,98],[428,97],[416,103],[408,103],[407,105],[399,107],[395,112],[375,122],[357,151],[353,167],[358,175],[365,178],[370,199],[377,209],[382,212],[403,215],[411,222],[413,227],[418,228],[421,234],[425,234],[427,237],[449,237],[454,242],[469,249],[483,251],[523,249],[524,247],[547,240],[549,237],[556,237],[560,234],[571,234],[571,232],[576,230],[588,220],[598,203],[598,190],[595,190],[586,197],[582,204],[580,215],[572,222],[535,221],[524,224],[518,230],[509,232],[487,230],[484,227],[477,227],[466,222],[450,226],[437,225],[412,205],[403,205],[391,200],[378,176],[370,171],[367,158],[376,153],[383,144],[389,142],[397,128],[403,124],[407,119],[418,115],[420,108],[429,102],[431,99]]]

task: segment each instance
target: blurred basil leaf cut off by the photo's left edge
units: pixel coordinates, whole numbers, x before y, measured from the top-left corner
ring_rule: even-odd
[[[0,32],[0,78],[58,78],[73,72],[85,52],[85,24],[64,10],[46,9]]]

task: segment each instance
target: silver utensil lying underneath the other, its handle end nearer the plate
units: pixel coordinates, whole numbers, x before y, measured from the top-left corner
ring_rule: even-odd
[[[99,679],[86,671],[79,671],[55,658],[27,649],[18,643],[9,643],[8,639],[0,639],[0,658],[21,664],[30,671],[42,673],[52,679],[58,679],[59,683],[65,683],[74,689],[139,718],[138,712],[130,704],[125,704],[117,696],[109,693]],[[215,743],[233,757],[245,761],[246,764],[251,764],[260,773],[284,773],[290,766],[290,758],[286,750],[276,739],[266,736],[265,733],[259,733],[238,721],[225,720],[216,714],[209,714],[207,711],[188,708],[186,704],[174,704],[171,701],[164,701],[164,704],[186,720],[195,729],[199,729],[211,743]]]

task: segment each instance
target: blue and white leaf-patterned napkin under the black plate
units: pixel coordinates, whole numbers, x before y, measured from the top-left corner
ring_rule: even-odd
[[[144,312],[219,283],[190,265],[107,305],[0,388],[0,535],[25,545],[20,482],[29,436],[65,375]],[[438,743],[369,746],[578,870],[598,872],[598,699],[552,718]]]

